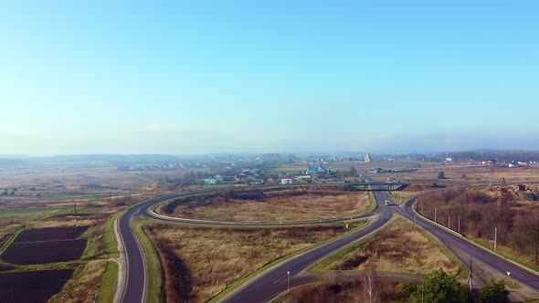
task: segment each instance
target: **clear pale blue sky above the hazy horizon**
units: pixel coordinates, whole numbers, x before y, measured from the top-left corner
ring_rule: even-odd
[[[0,154],[539,150],[536,1],[3,1]]]

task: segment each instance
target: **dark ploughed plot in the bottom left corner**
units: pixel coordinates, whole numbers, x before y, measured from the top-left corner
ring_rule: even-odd
[[[64,269],[0,274],[0,298],[3,302],[47,302],[72,273]]]

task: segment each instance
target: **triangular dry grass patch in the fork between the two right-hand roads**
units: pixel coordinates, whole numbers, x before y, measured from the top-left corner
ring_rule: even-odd
[[[427,275],[438,268],[452,274],[459,272],[439,246],[416,226],[400,220],[330,265],[330,269],[365,270],[367,264],[375,266],[376,271],[399,274]]]

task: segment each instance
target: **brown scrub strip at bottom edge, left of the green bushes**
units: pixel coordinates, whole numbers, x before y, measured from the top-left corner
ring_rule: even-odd
[[[399,281],[391,278],[375,277],[375,302],[395,302],[398,299]],[[342,303],[368,302],[369,297],[362,279],[355,281],[334,281],[292,288],[276,303]]]

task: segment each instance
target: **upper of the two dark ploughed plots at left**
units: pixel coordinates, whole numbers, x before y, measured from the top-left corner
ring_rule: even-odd
[[[86,239],[76,239],[88,227],[30,229],[17,236],[2,259],[28,265],[77,260],[86,248]]]

